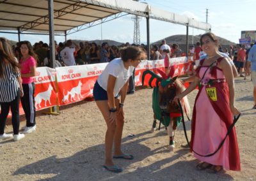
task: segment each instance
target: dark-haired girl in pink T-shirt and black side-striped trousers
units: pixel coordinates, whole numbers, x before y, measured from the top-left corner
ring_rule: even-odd
[[[21,98],[22,108],[26,115],[26,126],[23,133],[36,131],[36,108],[35,108],[35,83],[33,77],[36,75],[36,54],[29,41],[20,42],[20,73],[24,96]]]

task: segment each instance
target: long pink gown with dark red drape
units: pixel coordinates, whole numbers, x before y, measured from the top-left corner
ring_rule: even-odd
[[[198,76],[203,77],[208,66],[201,66]],[[227,129],[232,124],[232,113],[229,108],[229,92],[225,76],[220,68],[214,67],[214,73],[207,69],[204,80],[215,80],[211,85],[202,85],[196,96],[195,108],[193,110],[191,145],[193,150],[201,155],[211,154],[217,150]],[[221,80],[221,82],[216,82]],[[212,101],[208,97],[206,88],[215,87],[217,100]],[[214,88],[213,88],[214,89]],[[224,144],[216,154],[210,157],[194,156],[200,161],[221,165],[226,170],[241,170],[239,150],[237,146],[236,129],[226,138]]]

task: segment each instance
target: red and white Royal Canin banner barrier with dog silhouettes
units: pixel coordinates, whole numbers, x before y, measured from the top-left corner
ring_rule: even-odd
[[[192,70],[192,57],[177,57],[170,59],[170,66],[176,66],[174,76],[184,75]],[[36,68],[35,107],[42,110],[52,106],[68,105],[93,96],[93,86],[97,77],[108,63],[67,66],[56,69]],[[135,69],[135,86],[142,85],[141,76],[146,69],[157,73],[156,69],[164,71],[164,61],[144,61]],[[148,82],[148,80],[145,80]],[[147,84],[146,84],[147,85]],[[20,114],[24,114],[20,105]],[[11,117],[9,113],[8,117]]]

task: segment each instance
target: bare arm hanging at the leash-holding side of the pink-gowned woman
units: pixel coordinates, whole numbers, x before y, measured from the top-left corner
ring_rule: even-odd
[[[234,83],[234,76],[232,72],[232,68],[228,60],[225,58],[223,61],[220,62],[220,67],[223,71],[225,79],[228,84],[229,89],[229,106],[230,110],[234,115],[239,114],[239,110],[237,110],[236,106],[234,105],[235,102],[235,83]]]

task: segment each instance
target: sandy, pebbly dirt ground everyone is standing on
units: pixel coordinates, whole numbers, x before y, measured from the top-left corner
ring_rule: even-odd
[[[58,116],[38,112],[35,133],[16,142],[1,141],[0,180],[256,180],[252,91],[250,80],[236,78],[236,105],[242,112],[236,124],[242,171],[196,170],[198,161],[180,147],[186,143],[182,126],[175,135],[175,151],[170,152],[164,128],[150,133],[152,89],[140,89],[125,101],[123,150],[134,155],[134,160],[115,160],[124,168],[122,173],[102,168],[106,124],[94,101],[81,101],[62,106]],[[196,93],[189,94],[191,107]],[[24,116],[22,120],[20,127],[25,125]],[[190,122],[186,126],[190,135]],[[12,133],[11,125],[6,133]]]

